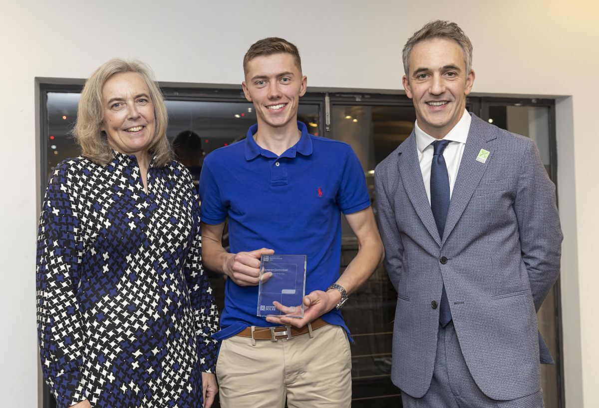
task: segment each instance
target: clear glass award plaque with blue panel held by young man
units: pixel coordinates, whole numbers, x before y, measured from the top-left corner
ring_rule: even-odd
[[[305,255],[262,255],[258,286],[258,316],[304,317]],[[263,280],[265,273],[273,274]],[[277,309],[273,302],[282,304]]]

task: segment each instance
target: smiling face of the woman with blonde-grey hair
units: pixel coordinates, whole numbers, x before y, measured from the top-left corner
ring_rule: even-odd
[[[100,129],[114,150],[147,156],[156,131],[154,106],[146,82],[135,72],[114,74],[102,87],[104,117]]]

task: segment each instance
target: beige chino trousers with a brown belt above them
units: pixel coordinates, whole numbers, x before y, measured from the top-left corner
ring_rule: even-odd
[[[352,356],[343,328],[326,325],[285,340],[233,336],[216,362],[222,408],[348,408]]]

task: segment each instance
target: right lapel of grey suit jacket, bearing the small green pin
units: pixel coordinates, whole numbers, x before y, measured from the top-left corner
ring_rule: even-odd
[[[453,185],[452,197],[449,203],[449,210],[447,211],[443,243],[462,216],[466,205],[468,205],[470,198],[474,194],[474,190],[476,190],[480,179],[482,179],[485,173],[487,165],[493,160],[493,150],[489,147],[488,142],[497,136],[492,132],[492,128],[487,123],[475,115],[471,116],[470,131],[468,131],[466,146],[464,147],[462,160],[459,164],[458,176]],[[491,152],[484,163],[476,160],[480,149]]]

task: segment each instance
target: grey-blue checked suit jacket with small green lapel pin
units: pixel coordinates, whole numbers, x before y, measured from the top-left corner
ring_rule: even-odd
[[[534,141],[471,116],[443,239],[414,132],[375,170],[385,265],[397,289],[391,377],[417,398],[431,383],[439,326],[431,302],[440,302],[443,282],[465,361],[488,397],[539,391],[539,361],[553,362],[536,311],[559,274],[555,186]],[[484,163],[481,149],[491,152]]]

